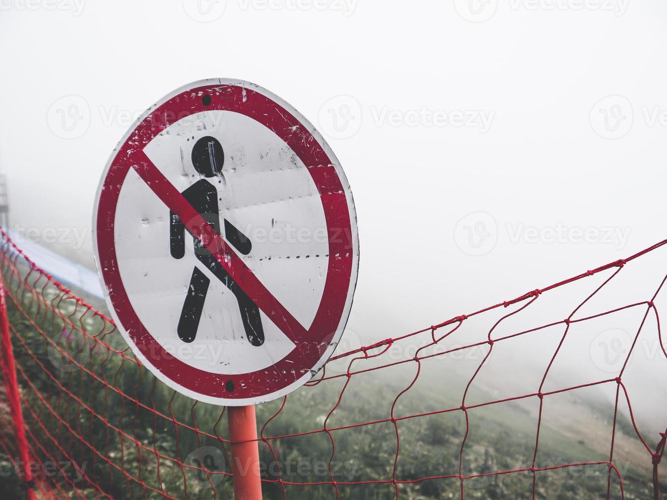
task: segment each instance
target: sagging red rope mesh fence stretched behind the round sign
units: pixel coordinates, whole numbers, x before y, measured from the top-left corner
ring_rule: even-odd
[[[654,354],[660,363],[667,360],[657,302],[667,276],[652,265],[646,283],[654,285],[644,299],[583,311],[633,261],[664,252],[665,243],[516,299],[335,353],[305,387],[257,407],[265,498],[660,498],[666,434],[642,432],[624,377],[640,335],[654,336]],[[111,319],[41,271],[4,233],[0,258],[30,457],[26,467],[3,345],[5,486],[15,479],[13,494],[34,489],[45,498],[231,497],[225,409],[193,402],[157,381]],[[564,319],[539,321],[544,311],[531,313],[550,293],[561,291],[558,302],[572,302],[576,294],[568,287],[586,279],[589,289],[566,305]],[[574,329],[626,313],[636,313],[638,321],[617,373],[548,385]],[[519,316],[534,325],[505,328]],[[464,332],[471,321],[472,331]],[[448,344],[456,335],[472,339],[480,332],[475,342]],[[494,351],[547,332],[556,341],[538,344],[548,362],[536,387],[515,394],[499,392],[504,383],[477,387]],[[432,370],[438,360],[446,363]],[[466,369],[448,371],[457,363]],[[503,366],[512,379],[517,366]],[[566,371],[576,378],[579,368]],[[646,391],[657,405],[666,393],[659,379],[651,383]],[[581,401],[601,387],[610,387],[612,397],[591,413]],[[574,393],[583,394],[576,411],[564,399]],[[600,416],[605,408],[606,419]],[[582,415],[590,425],[580,429]],[[578,439],[567,441],[572,436]],[[26,468],[33,479],[26,479]]]

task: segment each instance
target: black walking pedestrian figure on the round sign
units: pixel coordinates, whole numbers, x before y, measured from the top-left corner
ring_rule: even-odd
[[[224,161],[224,151],[215,137],[202,137],[192,148],[192,164],[195,170],[206,178],[221,176]],[[181,194],[192,205],[193,209],[201,214],[201,217],[213,227],[215,232],[222,235],[215,185],[206,179],[199,179]],[[173,211],[169,213],[169,220],[169,251],[171,257],[181,259],[185,255],[185,224]],[[223,221],[225,226],[224,237],[227,241],[243,255],[250,253],[251,241],[227,219],[223,219]],[[264,343],[264,331],[257,305],[251,301],[215,256],[196,237],[194,238],[194,246],[195,255],[199,262],[224,283],[236,297],[245,336],[249,343],[254,346],[262,345]],[[192,342],[197,335],[199,319],[201,319],[209,284],[210,280],[195,265],[177,326],[178,336],[183,342]]]

